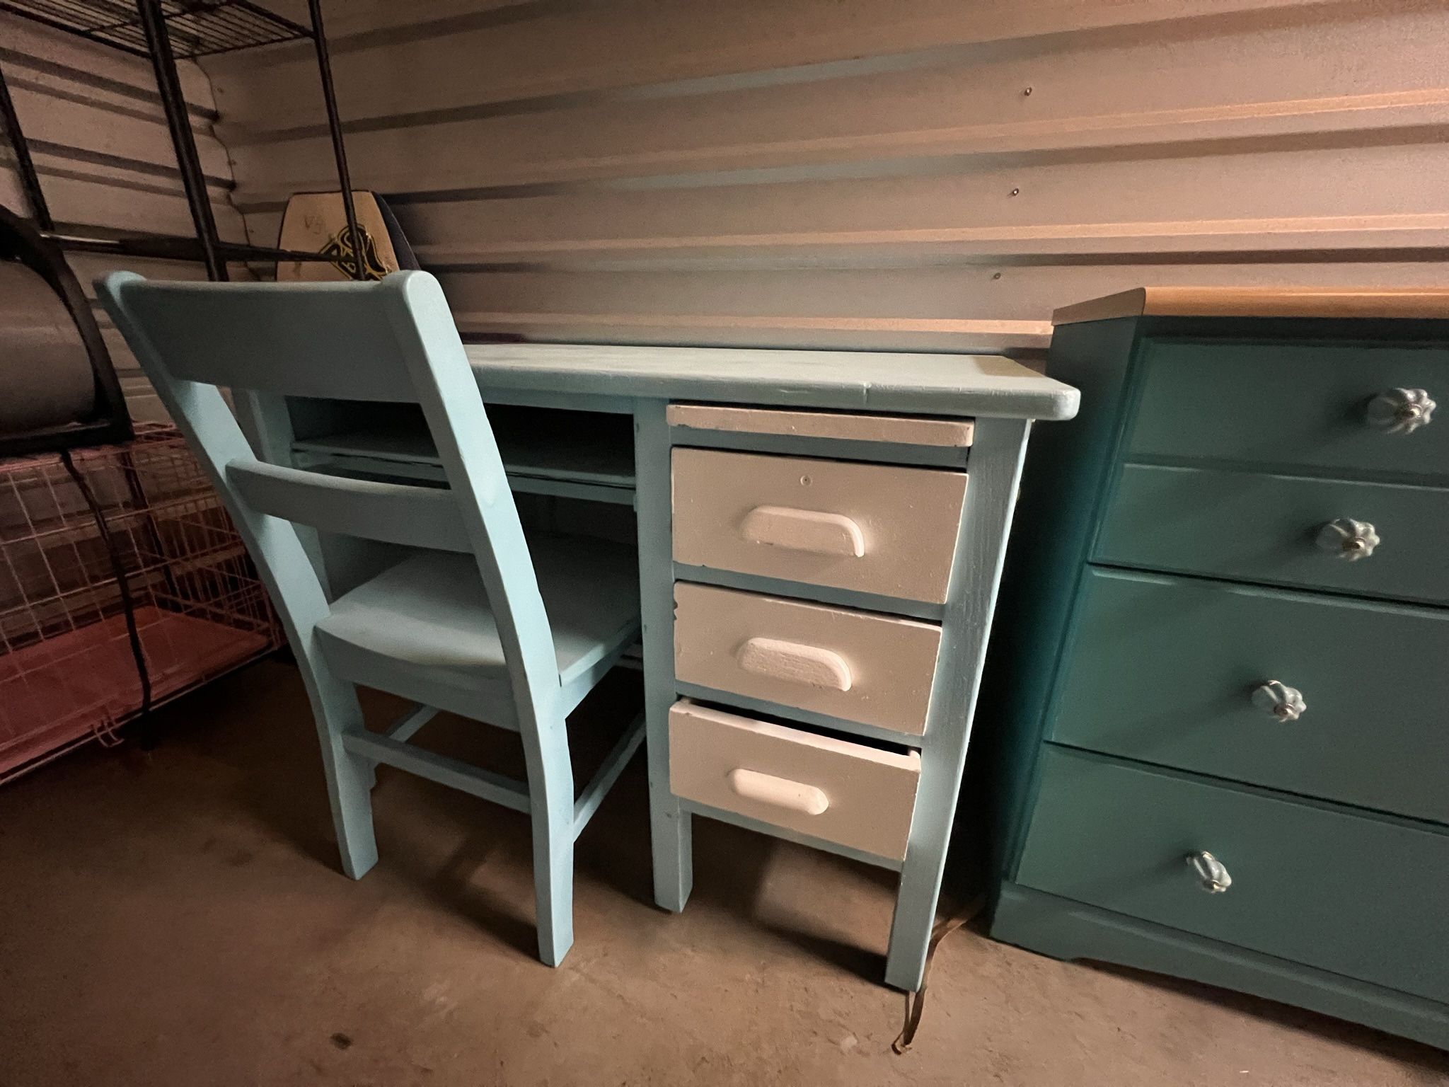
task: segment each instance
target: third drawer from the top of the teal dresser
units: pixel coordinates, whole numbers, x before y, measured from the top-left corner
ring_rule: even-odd
[[[1052,739],[1449,823],[1449,612],[1091,570]],[[1279,719],[1277,680],[1306,709]],[[1261,697],[1261,696],[1259,696]]]

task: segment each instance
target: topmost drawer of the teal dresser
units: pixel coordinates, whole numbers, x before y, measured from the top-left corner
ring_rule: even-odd
[[[1143,351],[1129,459],[1449,478],[1449,417],[1391,433],[1388,415],[1375,423],[1369,409],[1395,388],[1449,401],[1449,346],[1148,341]]]

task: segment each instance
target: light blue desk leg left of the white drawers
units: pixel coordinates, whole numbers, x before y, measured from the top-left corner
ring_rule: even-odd
[[[639,604],[643,615],[643,707],[649,749],[649,836],[653,900],[680,912],[694,886],[690,813],[669,791],[669,706],[674,704],[674,552],[669,536],[669,428],[662,400],[635,407],[635,503],[639,519]]]

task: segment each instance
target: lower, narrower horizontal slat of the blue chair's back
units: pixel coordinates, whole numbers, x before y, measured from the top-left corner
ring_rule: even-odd
[[[261,513],[323,532],[435,551],[472,551],[458,501],[445,490],[323,475],[262,461],[226,465],[226,478]]]

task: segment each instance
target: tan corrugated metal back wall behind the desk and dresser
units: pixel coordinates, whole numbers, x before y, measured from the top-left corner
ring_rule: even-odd
[[[1443,283],[1443,0],[329,3],[355,180],[471,333],[1039,352],[1135,284]],[[206,62],[236,200],[313,58]]]

